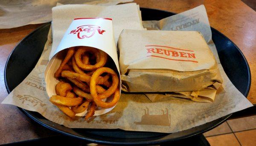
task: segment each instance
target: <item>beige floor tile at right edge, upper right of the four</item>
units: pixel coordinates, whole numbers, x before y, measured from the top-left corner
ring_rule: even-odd
[[[250,117],[241,117],[238,119],[227,120],[233,132],[249,130],[256,128],[256,115]]]

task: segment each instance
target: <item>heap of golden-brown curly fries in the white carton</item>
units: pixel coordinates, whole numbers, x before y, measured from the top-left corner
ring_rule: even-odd
[[[119,77],[113,69],[103,67],[107,60],[108,55],[99,49],[86,46],[69,48],[54,76],[64,77],[70,82],[59,82],[55,86],[57,95],[50,97],[50,102],[73,119],[76,113],[87,109],[85,120],[94,115],[96,106],[115,106],[120,98]],[[102,101],[108,97],[112,97],[111,102]]]

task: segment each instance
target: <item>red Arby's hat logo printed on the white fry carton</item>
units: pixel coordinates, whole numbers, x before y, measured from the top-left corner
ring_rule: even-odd
[[[78,26],[75,30],[70,31],[69,34],[77,34],[79,39],[92,37],[95,33],[103,34],[105,30],[100,29],[100,26],[96,25],[84,25]]]

